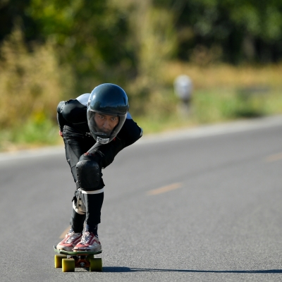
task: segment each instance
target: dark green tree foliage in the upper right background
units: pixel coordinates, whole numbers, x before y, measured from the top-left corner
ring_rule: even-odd
[[[175,16],[178,58],[199,46],[218,47],[221,59],[278,61],[282,57],[282,2],[278,0],[154,0]]]

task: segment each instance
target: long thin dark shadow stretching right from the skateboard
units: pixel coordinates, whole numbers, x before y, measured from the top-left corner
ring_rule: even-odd
[[[135,269],[122,266],[104,266],[103,272],[188,272],[188,273],[223,273],[223,274],[282,274],[282,269],[266,270],[192,270],[192,269]]]

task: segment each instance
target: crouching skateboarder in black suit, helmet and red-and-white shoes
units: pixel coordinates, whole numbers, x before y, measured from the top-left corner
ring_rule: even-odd
[[[59,134],[76,184],[71,229],[57,250],[102,250],[98,224],[104,200],[102,168],[142,136],[128,112],[128,97],[118,85],[105,83],[76,99],[60,102]],[[83,231],[85,225],[85,229]]]

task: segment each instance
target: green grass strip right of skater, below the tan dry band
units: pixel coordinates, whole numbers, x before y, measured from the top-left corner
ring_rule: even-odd
[[[135,118],[135,121],[146,134],[202,124],[278,115],[282,114],[281,92],[282,89],[262,91],[227,87],[196,90],[188,108],[178,101],[177,104],[171,105],[173,109],[171,112],[148,113]]]

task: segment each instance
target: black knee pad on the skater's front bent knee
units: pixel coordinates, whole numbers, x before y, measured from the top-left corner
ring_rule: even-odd
[[[99,190],[102,182],[101,168],[94,157],[83,154],[76,164],[77,187],[85,191]]]

